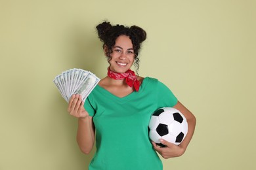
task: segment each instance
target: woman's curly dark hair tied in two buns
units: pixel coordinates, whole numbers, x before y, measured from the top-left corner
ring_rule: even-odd
[[[103,48],[106,47],[106,56],[108,61],[112,58],[110,54],[113,52],[112,47],[116,44],[116,39],[120,35],[126,35],[131,39],[133,43],[133,50],[135,52],[135,68],[138,73],[139,70],[139,50],[141,43],[146,40],[146,31],[141,27],[133,25],[131,27],[125,27],[124,25],[111,25],[110,22],[102,22],[96,26],[98,31],[98,38],[103,42]]]

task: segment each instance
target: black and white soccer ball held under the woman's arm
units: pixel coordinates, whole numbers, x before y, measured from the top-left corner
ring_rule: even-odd
[[[157,109],[150,118],[148,128],[150,139],[163,147],[165,145],[160,143],[160,139],[179,145],[188,133],[185,116],[172,107]]]

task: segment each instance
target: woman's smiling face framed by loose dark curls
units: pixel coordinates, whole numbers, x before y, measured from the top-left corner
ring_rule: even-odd
[[[126,35],[120,35],[117,37],[112,51],[110,54],[112,59],[109,61],[110,70],[116,73],[125,73],[131,68],[135,60],[135,52],[131,39]]]

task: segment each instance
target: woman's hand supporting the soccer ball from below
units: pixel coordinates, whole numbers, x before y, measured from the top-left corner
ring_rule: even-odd
[[[157,146],[156,143],[152,141],[154,149],[158,152],[163,158],[174,158],[181,156],[184,154],[185,149],[181,148],[181,146],[177,146],[176,144],[169,143],[163,139],[160,139],[161,143],[165,145],[165,147]]]

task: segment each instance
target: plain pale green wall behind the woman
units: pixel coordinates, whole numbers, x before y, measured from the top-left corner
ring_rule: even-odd
[[[95,31],[104,19],[147,31],[140,76],[196,115],[188,150],[164,169],[255,169],[255,9],[253,0],[0,0],[0,169],[87,169],[93,153],[79,151],[53,78],[74,67],[106,75]]]

